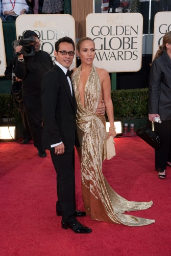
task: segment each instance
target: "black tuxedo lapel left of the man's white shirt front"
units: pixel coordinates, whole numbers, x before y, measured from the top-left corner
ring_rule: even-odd
[[[69,86],[69,82],[68,82],[68,79],[65,75],[65,73],[63,72],[63,70],[61,70],[60,67],[58,67],[57,65],[54,65],[54,68],[59,72],[59,75],[60,75],[60,79],[62,81],[62,84],[63,84],[63,87],[69,97],[69,100],[71,102],[71,105],[72,105],[72,108],[75,109],[74,107],[74,102],[72,100],[72,95],[71,95],[71,91],[70,91],[70,86]],[[73,87],[72,87],[72,94],[74,93],[74,90],[73,90]]]

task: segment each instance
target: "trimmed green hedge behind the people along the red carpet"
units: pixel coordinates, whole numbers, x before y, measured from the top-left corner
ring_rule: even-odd
[[[114,119],[146,118],[148,116],[148,91],[147,88],[111,91]],[[8,118],[10,113],[15,123],[22,123],[19,110],[13,98],[11,100],[10,98],[9,94],[0,94],[0,119]]]

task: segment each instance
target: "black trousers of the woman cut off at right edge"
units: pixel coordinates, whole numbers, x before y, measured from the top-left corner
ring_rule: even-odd
[[[154,122],[154,130],[161,140],[161,146],[155,150],[155,169],[162,173],[167,161],[171,162],[171,120]]]

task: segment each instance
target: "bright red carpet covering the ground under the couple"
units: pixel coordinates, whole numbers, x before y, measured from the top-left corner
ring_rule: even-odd
[[[120,195],[153,206],[129,212],[155,219],[149,226],[129,227],[79,219],[92,228],[77,234],[61,228],[56,216],[56,174],[47,151],[39,158],[33,144],[0,143],[1,256],[169,256],[171,255],[171,168],[160,180],[154,170],[154,150],[138,137],[115,139],[116,156],[103,163],[103,174]],[[76,155],[77,209],[83,210],[80,169]]]

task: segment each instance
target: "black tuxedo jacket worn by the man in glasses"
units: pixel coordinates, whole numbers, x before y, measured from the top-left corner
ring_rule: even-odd
[[[76,142],[76,98],[74,90],[71,96],[67,77],[57,65],[43,77],[41,102],[44,118],[43,147],[54,151],[51,145],[62,141],[65,153],[72,152]]]

